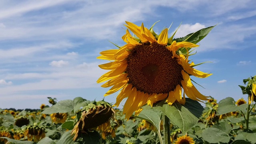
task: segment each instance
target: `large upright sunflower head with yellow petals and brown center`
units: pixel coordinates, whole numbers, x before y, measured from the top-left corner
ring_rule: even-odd
[[[211,74],[194,69],[189,63],[187,54],[178,54],[180,48],[194,48],[198,45],[190,42],[168,43],[168,29],[159,35],[145,28],[143,23],[137,26],[131,22],[125,25],[138,38],[132,36],[129,30],[122,36],[125,44],[119,49],[100,52],[98,59],[111,62],[99,65],[104,70],[110,70],[98,79],[98,83],[108,80],[102,87],[110,87],[104,96],[122,89],[116,98],[115,106],[127,98],[123,113],[129,118],[142,110],[144,104],[153,106],[157,101],[166,99],[172,105],[175,101],[185,104],[184,93],[192,100],[208,100],[198,92],[190,80],[190,75],[206,78]],[[170,41],[169,41],[170,42]]]

